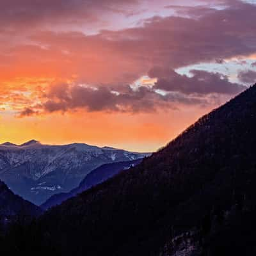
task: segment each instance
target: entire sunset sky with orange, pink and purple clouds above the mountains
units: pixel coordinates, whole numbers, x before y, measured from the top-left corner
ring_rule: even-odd
[[[1,0],[0,143],[163,147],[256,83],[256,0]]]

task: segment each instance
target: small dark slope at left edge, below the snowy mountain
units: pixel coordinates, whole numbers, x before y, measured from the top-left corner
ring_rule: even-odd
[[[9,223],[17,216],[38,216],[41,213],[39,207],[15,195],[0,180],[0,226]]]

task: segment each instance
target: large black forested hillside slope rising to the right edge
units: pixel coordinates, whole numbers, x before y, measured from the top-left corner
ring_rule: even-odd
[[[253,86],[129,172],[46,212],[18,250],[32,255],[33,237],[60,255],[255,255],[255,133]]]

